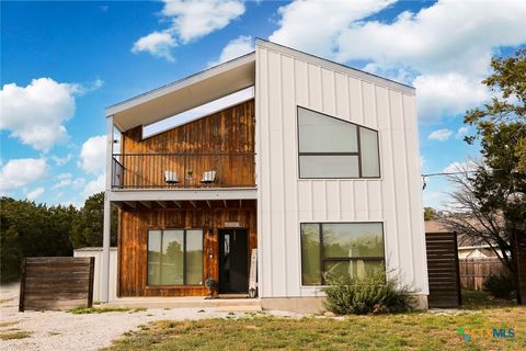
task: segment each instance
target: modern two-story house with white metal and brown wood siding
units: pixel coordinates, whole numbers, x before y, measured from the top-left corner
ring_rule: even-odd
[[[414,88],[256,39],[106,118],[104,301],[206,296],[213,279],[219,294],[256,281],[263,308],[315,310],[325,274],[385,269],[426,307]]]

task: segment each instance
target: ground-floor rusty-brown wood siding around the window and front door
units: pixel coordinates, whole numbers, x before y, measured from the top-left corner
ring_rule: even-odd
[[[204,233],[203,280],[219,279],[218,230],[225,222],[239,222],[248,230],[250,250],[258,248],[255,201],[197,202],[197,207],[121,211],[118,245],[118,296],[205,296],[204,285],[149,287],[147,286],[147,242],[149,228],[199,228]],[[214,235],[208,235],[208,228]],[[241,229],[241,228],[240,228]],[[211,251],[211,258],[210,258]],[[249,262],[248,262],[249,265]]]

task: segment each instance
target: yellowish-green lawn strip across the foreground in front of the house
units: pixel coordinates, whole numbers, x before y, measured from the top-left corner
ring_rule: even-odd
[[[469,342],[459,327],[476,330]],[[481,336],[513,328],[515,338]],[[478,335],[478,336],[477,336]],[[526,348],[526,308],[436,315],[348,316],[302,319],[249,316],[195,321],[158,321],[130,331],[108,350],[521,350]]]

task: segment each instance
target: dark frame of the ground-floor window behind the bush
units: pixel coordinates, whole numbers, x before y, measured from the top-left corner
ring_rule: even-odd
[[[320,284],[305,284],[304,283],[304,269],[302,269],[302,262],[304,262],[304,236],[301,235],[301,226],[302,225],[318,225],[318,235],[319,235],[319,240],[320,240]],[[324,248],[323,248],[323,225],[327,224],[380,224],[381,226],[381,242],[384,247],[384,256],[355,256],[355,257],[329,257],[325,258],[324,254]],[[325,268],[325,262],[351,262],[351,261],[374,261],[374,262],[384,262],[384,268],[387,269],[386,267],[386,231],[385,231],[385,225],[384,222],[381,220],[362,220],[362,222],[300,222],[299,223],[299,252],[300,252],[300,275],[301,275],[301,286],[306,287],[316,287],[316,286],[325,286],[325,278],[324,278],[324,268]]]

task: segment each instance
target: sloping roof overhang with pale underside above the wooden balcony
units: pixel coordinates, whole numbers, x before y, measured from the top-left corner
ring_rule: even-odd
[[[255,83],[255,53],[106,107],[121,132],[148,125]]]

